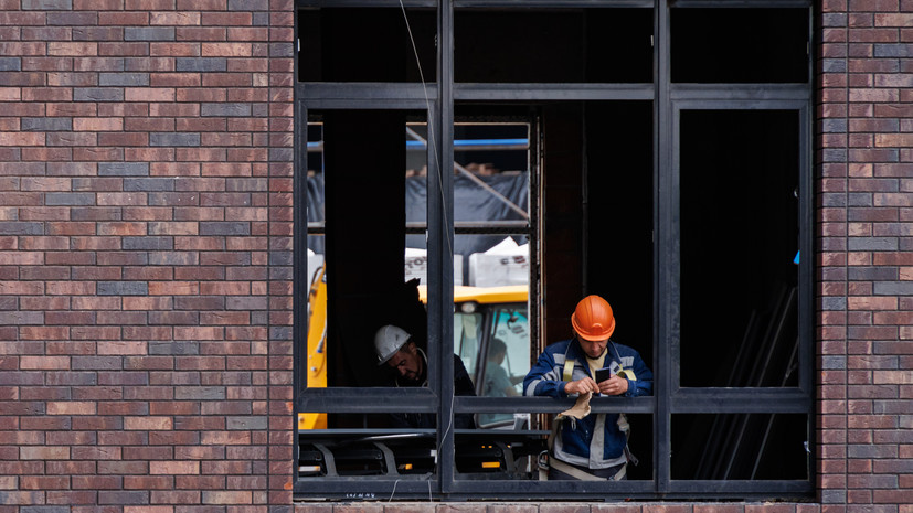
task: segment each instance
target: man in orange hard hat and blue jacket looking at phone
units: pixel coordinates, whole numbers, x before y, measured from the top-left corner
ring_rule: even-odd
[[[550,480],[625,479],[628,461],[637,463],[627,449],[627,420],[624,414],[590,415],[588,398],[651,395],[652,372],[637,351],[609,339],[615,317],[605,299],[583,298],[571,324],[574,338],[545,348],[523,381],[527,396],[578,398],[555,418],[548,463],[540,464]]]

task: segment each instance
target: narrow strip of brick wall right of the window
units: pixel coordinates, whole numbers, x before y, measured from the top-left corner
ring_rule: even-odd
[[[913,511],[913,2],[824,1],[817,264],[825,511]]]

